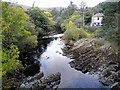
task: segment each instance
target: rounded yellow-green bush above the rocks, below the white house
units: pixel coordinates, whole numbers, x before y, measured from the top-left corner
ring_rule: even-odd
[[[77,28],[75,25],[73,25],[65,31],[63,39],[76,41],[88,36],[89,34],[83,28]]]

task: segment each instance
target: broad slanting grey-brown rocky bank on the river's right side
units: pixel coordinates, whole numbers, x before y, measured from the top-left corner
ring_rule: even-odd
[[[118,50],[104,39],[85,38],[65,43],[64,55],[71,58],[70,66],[83,73],[98,74],[99,81],[111,88],[120,83]]]

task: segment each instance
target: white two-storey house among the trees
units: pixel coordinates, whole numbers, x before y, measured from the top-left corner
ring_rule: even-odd
[[[96,26],[96,27],[102,26],[101,22],[102,22],[103,16],[104,16],[103,13],[96,13],[95,15],[93,14],[90,26]]]

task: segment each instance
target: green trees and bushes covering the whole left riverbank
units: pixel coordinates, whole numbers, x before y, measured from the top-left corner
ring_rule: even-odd
[[[27,67],[32,68],[31,64],[35,66],[35,70],[38,70],[36,72],[39,72],[38,64],[31,61],[32,57],[27,61],[24,55],[34,51],[39,35],[48,34],[52,27],[46,25],[54,25],[54,21],[49,12],[38,8],[30,8],[25,12],[20,6],[12,3],[1,4],[2,73],[0,77],[3,79],[2,88],[8,89],[19,87],[25,75],[27,76],[25,72],[28,73],[30,70]]]

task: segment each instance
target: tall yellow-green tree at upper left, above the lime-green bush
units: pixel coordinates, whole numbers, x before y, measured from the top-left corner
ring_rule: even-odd
[[[8,3],[2,3],[2,41],[3,47],[18,43],[18,39],[24,34],[30,34],[25,30],[29,20],[27,14],[20,7],[13,8]]]

